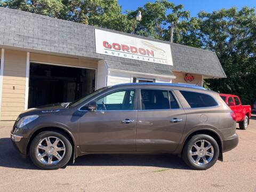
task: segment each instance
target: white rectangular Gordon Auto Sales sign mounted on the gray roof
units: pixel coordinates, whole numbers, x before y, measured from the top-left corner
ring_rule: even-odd
[[[100,54],[173,65],[170,44],[95,29],[95,45]]]

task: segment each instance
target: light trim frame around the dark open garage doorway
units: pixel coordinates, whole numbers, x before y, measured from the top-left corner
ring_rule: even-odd
[[[90,67],[79,67],[79,66],[71,66],[71,65],[63,65],[63,64],[58,64],[58,63],[49,63],[49,62],[39,62],[39,61],[33,61],[29,60],[29,54],[27,55],[27,67],[26,67],[26,85],[25,85],[25,110],[28,109],[28,96],[29,96],[29,74],[30,74],[30,65],[31,63],[38,63],[42,65],[53,65],[53,66],[60,66],[60,67],[73,67],[73,68],[81,68],[81,69],[92,69],[95,70],[95,90],[97,90],[97,68],[90,68]]]

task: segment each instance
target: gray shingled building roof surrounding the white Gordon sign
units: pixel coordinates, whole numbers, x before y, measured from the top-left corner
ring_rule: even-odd
[[[214,52],[115,30],[98,28],[113,33],[170,44],[173,66],[96,53],[95,28],[97,27],[0,7],[1,47],[9,49],[17,47],[35,53],[106,60],[109,68],[142,73],[172,76],[173,70],[209,77],[226,77]]]

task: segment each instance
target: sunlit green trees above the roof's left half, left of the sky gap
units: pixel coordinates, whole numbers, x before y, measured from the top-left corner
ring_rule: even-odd
[[[119,31],[131,26],[117,0],[6,0],[1,6]]]

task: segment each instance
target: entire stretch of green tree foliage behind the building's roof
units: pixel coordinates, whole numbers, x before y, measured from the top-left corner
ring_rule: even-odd
[[[183,5],[167,0],[148,2],[125,13],[117,0],[0,0],[0,6],[165,41],[170,41],[173,23],[173,42],[217,53],[227,78],[206,79],[207,87],[237,94],[244,103],[256,99],[255,9],[202,11],[190,18]],[[142,12],[141,21],[135,20],[138,11]]]

